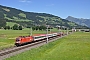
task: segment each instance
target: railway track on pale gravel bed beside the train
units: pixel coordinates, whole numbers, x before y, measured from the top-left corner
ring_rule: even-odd
[[[62,36],[64,37],[64,36]],[[62,38],[62,37],[54,37],[54,38],[50,38],[48,40],[48,42],[51,42],[51,41],[55,41],[59,38]],[[17,51],[20,51],[20,50],[23,50],[23,49],[27,49],[27,50],[30,50],[31,48],[35,48],[34,46],[38,47],[38,46],[42,46],[43,44],[46,44],[46,39],[45,40],[41,40],[41,41],[38,41],[38,42],[34,42],[34,43],[31,43],[31,44],[28,44],[28,45],[24,45],[24,46],[20,46],[20,47],[14,47],[12,49],[8,49],[8,50],[5,50],[5,51],[1,51],[0,52],[0,58],[1,60],[4,59],[4,58],[7,58],[7,57],[10,57],[12,55],[15,55],[15,54],[12,54],[12,53],[15,53]],[[22,51],[23,52],[23,51]],[[9,54],[11,54],[10,56],[8,56]]]

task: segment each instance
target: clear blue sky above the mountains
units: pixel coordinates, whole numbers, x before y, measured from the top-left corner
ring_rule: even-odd
[[[0,5],[27,12],[90,19],[90,0],[0,0]]]

